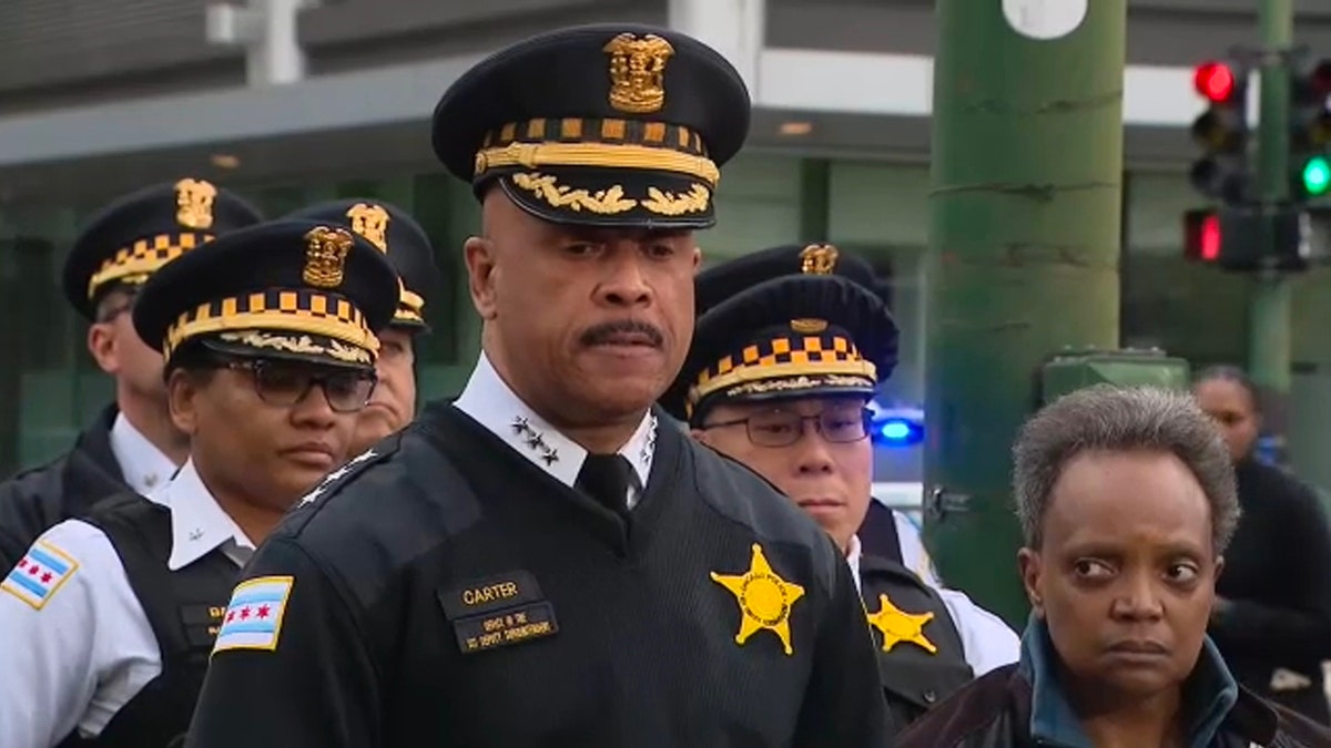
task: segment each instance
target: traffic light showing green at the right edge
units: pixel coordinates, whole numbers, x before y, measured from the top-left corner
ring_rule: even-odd
[[[1331,192],[1331,60],[1295,68],[1290,80],[1290,196]]]

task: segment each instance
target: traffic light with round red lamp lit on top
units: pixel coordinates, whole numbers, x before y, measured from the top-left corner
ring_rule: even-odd
[[[1202,194],[1227,205],[1244,202],[1250,192],[1247,85],[1248,68],[1235,63],[1213,60],[1193,72],[1193,88],[1209,106],[1193,122],[1193,140],[1203,153],[1190,178]]]

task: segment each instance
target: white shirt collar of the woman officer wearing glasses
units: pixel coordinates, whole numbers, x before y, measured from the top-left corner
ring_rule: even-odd
[[[170,559],[166,568],[176,571],[204,558],[209,551],[226,547],[226,555],[242,563],[254,551],[254,543],[232,520],[230,515],[204,486],[194,461],[185,466],[162,488],[162,503],[170,507]],[[240,552],[232,552],[240,551]]]

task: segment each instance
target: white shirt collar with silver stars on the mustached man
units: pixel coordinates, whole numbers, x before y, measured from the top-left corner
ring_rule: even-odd
[[[571,487],[578,479],[587,450],[556,431],[548,421],[522,402],[484,353],[476,361],[471,379],[454,406],[564,486]],[[656,415],[648,411],[643,417],[619,454],[634,466],[638,488],[646,487],[656,454]]]

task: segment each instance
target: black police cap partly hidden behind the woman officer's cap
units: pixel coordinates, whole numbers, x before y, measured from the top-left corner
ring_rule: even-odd
[[[370,240],[398,270],[399,298],[393,326],[413,331],[427,329],[425,306],[439,287],[439,269],[434,264],[430,237],[406,210],[382,200],[357,197],[319,202],[286,217],[346,226]]]

